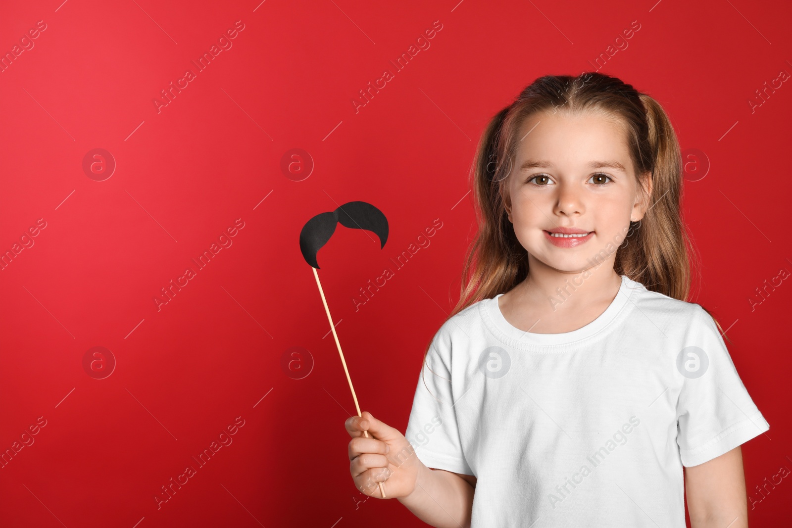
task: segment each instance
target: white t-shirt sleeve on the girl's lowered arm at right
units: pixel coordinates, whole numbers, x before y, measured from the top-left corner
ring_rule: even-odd
[[[709,313],[696,305],[676,369],[683,377],[676,403],[682,465],[719,457],[770,428],[745,389]]]

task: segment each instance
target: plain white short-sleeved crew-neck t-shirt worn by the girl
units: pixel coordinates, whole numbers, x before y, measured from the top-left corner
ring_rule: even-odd
[[[770,428],[698,304],[622,275],[600,317],[539,334],[500,296],[440,327],[406,430],[425,465],[478,478],[472,528],[684,528],[682,466]]]

